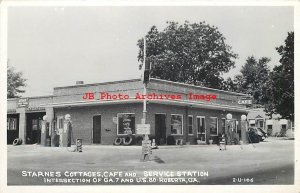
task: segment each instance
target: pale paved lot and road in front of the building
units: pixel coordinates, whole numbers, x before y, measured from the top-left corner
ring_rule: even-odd
[[[85,145],[82,153],[69,150],[8,146],[8,185],[294,183],[293,140],[269,138],[255,145],[227,146],[226,151],[219,151],[216,145],[161,146],[147,162],[141,161],[141,146]],[[30,172],[41,175],[30,176]],[[50,181],[51,176],[45,176],[49,172],[61,176]],[[98,172],[98,176],[70,176],[72,172]],[[113,176],[112,172],[122,174]]]

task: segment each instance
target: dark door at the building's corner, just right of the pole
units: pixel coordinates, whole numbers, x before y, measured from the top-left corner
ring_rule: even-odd
[[[155,142],[158,145],[166,143],[166,115],[155,114]]]

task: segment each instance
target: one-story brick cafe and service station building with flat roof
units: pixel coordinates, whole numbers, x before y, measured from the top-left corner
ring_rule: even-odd
[[[141,79],[95,84],[80,81],[55,87],[50,96],[8,99],[7,143],[16,138],[23,144],[46,139],[48,145],[56,146],[55,140],[69,121],[71,136],[82,139],[83,144],[112,145],[126,136],[140,144],[143,135],[137,130],[143,121],[144,100],[149,137],[158,145],[173,141],[217,143],[218,137],[228,132],[238,140],[243,138],[241,116],[249,112],[245,104],[248,95],[154,78],[143,93]]]

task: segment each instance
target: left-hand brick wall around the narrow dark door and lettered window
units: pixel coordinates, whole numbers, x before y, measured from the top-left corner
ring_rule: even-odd
[[[101,106],[81,106],[55,109],[55,117],[71,115],[74,139],[83,139],[83,144],[92,144],[93,116],[101,115],[101,144],[113,144],[117,136],[117,124],[113,117],[118,113],[134,113],[136,123],[142,118],[142,103]]]

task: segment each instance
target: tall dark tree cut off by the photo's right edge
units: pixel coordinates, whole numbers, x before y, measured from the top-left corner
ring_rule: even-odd
[[[281,65],[275,66],[270,75],[266,92],[265,111],[277,113],[284,119],[294,120],[294,32],[289,32],[285,45],[276,48],[281,55]]]

